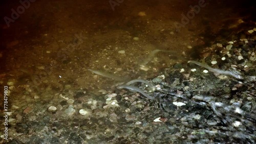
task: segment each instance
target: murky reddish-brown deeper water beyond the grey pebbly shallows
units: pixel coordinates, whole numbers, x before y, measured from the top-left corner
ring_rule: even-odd
[[[123,1],[117,6],[108,1],[36,1],[18,15],[11,11],[18,2],[2,3],[2,16],[17,18],[1,25],[2,74],[23,77],[19,82],[42,89],[70,84],[97,91],[115,84],[88,69],[152,78],[170,64],[197,57],[215,43],[221,29],[236,27],[237,20],[251,14],[221,1],[206,1],[201,7],[198,1]],[[141,67],[157,49],[169,52],[156,53]]]

